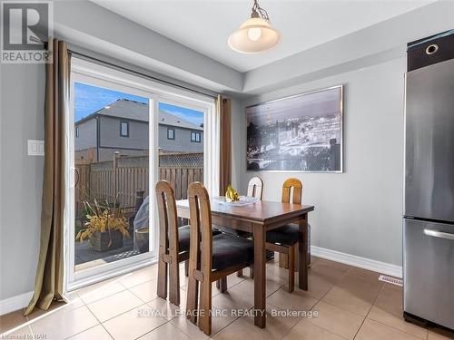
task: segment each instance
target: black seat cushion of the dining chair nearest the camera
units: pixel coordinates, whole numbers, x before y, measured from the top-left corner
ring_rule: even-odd
[[[229,234],[219,234],[212,238],[212,269],[253,263],[254,246],[250,239],[238,238]]]

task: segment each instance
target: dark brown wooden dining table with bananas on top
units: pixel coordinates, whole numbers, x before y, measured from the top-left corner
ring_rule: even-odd
[[[301,204],[259,200],[246,205],[229,205],[211,199],[212,224],[252,233],[254,243],[254,324],[266,325],[266,232],[289,223],[299,225],[298,280],[299,287],[308,289],[308,214],[314,207]],[[177,200],[178,217],[189,219],[189,202]]]

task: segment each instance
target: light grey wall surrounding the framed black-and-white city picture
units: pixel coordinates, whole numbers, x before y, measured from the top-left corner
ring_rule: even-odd
[[[281,199],[281,183],[303,182],[313,246],[401,265],[403,98],[405,59],[380,63],[319,81],[253,97],[233,106],[233,178],[264,181],[263,199]],[[344,84],[344,173],[246,171],[244,107],[292,94]]]

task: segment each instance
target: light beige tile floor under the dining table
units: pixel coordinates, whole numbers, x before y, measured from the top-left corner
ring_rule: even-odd
[[[378,281],[379,273],[313,257],[309,290],[287,292],[287,270],[267,263],[267,327],[257,328],[247,311],[253,281],[232,275],[228,291],[212,287],[212,337],[283,340],[408,339],[446,340],[454,334],[424,328],[402,318],[402,288]],[[186,278],[181,272],[180,307],[156,296],[156,266],[84,287],[68,295],[71,303],[50,311],[0,316],[0,338],[46,340],[204,340],[208,336],[182,316]],[[242,309],[240,316],[236,309]],[[317,314],[318,313],[318,314]],[[5,333],[6,332],[6,333]],[[9,333],[8,333],[9,332]],[[20,337],[23,335],[25,337]],[[27,337],[28,336],[28,337]]]

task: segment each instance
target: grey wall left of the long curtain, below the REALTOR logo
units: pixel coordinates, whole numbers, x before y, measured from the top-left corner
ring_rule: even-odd
[[[44,157],[44,65],[0,64],[0,300],[33,290],[39,253]]]

